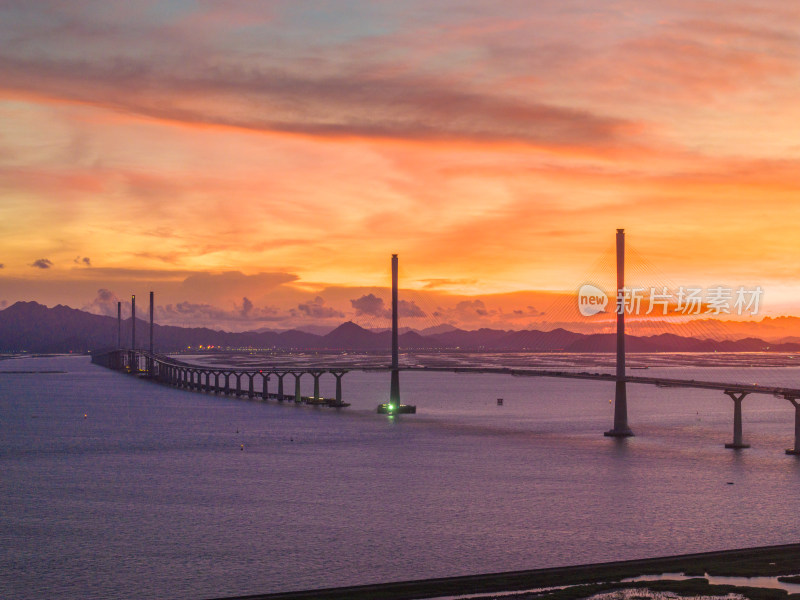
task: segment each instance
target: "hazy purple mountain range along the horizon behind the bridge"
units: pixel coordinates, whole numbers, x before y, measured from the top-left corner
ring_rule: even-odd
[[[389,352],[391,333],[370,331],[348,321],[324,335],[289,331],[231,333],[207,328],[155,325],[155,350],[176,352],[213,346],[222,349],[346,350]],[[404,330],[399,336],[403,350],[461,350],[474,352],[613,352],[614,334],[552,331],[465,331],[440,326],[423,333]],[[149,323],[136,320],[137,346],[149,344]],[[800,342],[771,343],[747,337],[711,340],[674,334],[626,336],[629,352],[798,352]],[[131,320],[122,324],[122,345],[131,341]],[[48,308],[36,302],[17,302],[0,311],[0,352],[87,352],[117,344],[117,319],[87,313],[68,306]]]

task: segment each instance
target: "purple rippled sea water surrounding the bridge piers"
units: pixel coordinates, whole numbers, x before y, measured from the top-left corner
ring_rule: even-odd
[[[757,357],[659,360],[644,373],[800,387]],[[637,436],[615,441],[613,384],[403,373],[419,413],[389,419],[386,373],[343,381],[336,411],[86,357],[0,361],[0,597],[213,598],[798,541],[785,400],[747,397],[736,452],[721,392],[630,386]]]

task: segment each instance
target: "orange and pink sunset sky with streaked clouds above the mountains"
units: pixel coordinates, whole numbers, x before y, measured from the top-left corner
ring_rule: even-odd
[[[523,328],[625,228],[800,314],[796,0],[5,0],[0,75],[3,305],[374,325],[397,253],[406,324]]]

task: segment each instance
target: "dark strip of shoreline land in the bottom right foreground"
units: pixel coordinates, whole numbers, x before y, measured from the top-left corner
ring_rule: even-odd
[[[684,573],[697,576],[684,581],[647,581],[621,583],[620,580],[640,575]],[[724,550],[686,554],[644,560],[597,563],[553,569],[510,571],[465,577],[446,577],[403,581],[376,585],[360,585],[302,592],[239,596],[226,600],[411,600],[464,594],[485,594],[535,588],[569,586],[547,592],[504,596],[516,600],[578,600],[592,594],[624,588],[647,588],[653,591],[670,591],[682,596],[741,594],[751,600],[800,600],[800,594],[784,590],[731,585],[710,585],[703,577],[715,576],[755,577],[785,576],[785,580],[800,574],[800,544],[765,546],[742,550]],[[783,578],[782,578],[783,579]]]

